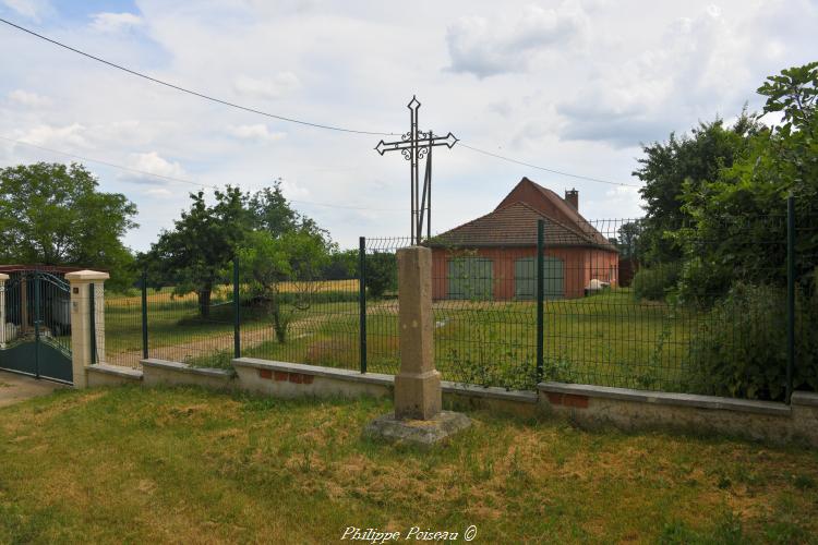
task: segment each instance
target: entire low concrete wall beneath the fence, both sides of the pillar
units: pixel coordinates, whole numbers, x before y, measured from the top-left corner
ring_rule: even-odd
[[[143,372],[113,365],[88,366],[88,385],[195,385],[280,398],[356,398],[392,397],[395,384],[392,375],[253,358],[233,360],[236,373],[163,360],[143,360],[142,367]],[[537,391],[507,391],[445,380],[441,386],[444,404],[456,409],[489,409],[522,416],[548,413],[584,427],[613,425],[626,431],[709,432],[818,447],[818,393],[811,392],[796,391],[787,405],[563,383],[541,383]]]

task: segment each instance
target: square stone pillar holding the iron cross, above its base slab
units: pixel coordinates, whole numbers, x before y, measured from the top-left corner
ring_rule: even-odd
[[[430,420],[441,412],[441,374],[434,368],[432,251],[398,251],[400,372],[395,377],[395,417]]]

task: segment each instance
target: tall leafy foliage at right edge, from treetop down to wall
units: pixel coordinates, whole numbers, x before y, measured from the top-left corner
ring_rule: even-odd
[[[793,386],[818,388],[818,63],[770,76],[758,93],[779,124],[755,134],[734,164],[682,201],[690,226],[683,301],[712,304],[691,341],[700,391],[783,399],[786,384],[786,197],[796,210],[796,354]],[[701,386],[705,388],[701,388]]]

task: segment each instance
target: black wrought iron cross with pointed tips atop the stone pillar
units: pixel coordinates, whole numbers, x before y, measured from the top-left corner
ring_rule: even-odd
[[[399,141],[384,142],[383,140],[375,146],[375,152],[384,155],[386,152],[397,152],[404,155],[409,161],[409,171],[411,174],[411,228],[412,244],[420,244],[423,235],[423,220],[426,221],[426,239],[432,237],[432,148],[436,146],[447,146],[449,149],[457,144],[454,134],[448,133],[446,136],[435,136],[432,131],[418,130],[418,109],[420,102],[412,96],[409,107],[409,132],[404,134]],[[425,174],[423,177],[423,192],[420,187],[420,175],[418,167],[420,161],[425,157]]]

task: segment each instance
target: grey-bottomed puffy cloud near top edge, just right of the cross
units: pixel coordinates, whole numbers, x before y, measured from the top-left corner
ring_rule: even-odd
[[[460,17],[446,35],[450,70],[478,77],[524,72],[539,55],[581,43],[588,29],[588,17],[575,2],[556,9],[527,5],[515,17]]]

